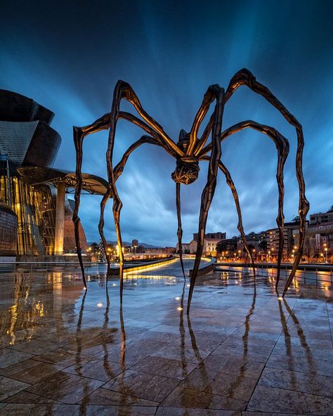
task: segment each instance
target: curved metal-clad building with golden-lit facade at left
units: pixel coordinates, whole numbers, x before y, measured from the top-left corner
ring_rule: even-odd
[[[13,231],[16,216],[16,249],[14,253],[9,249],[15,255],[63,255],[75,250],[66,194],[73,192],[77,180],[74,172],[53,169],[61,143],[50,125],[53,116],[31,98],[0,90],[0,211],[2,217],[11,216],[11,221],[0,222],[0,235]],[[83,179],[85,192],[105,193],[103,178],[83,174]],[[84,251],[83,228],[80,235]],[[4,247],[1,250],[0,255],[10,255]]]

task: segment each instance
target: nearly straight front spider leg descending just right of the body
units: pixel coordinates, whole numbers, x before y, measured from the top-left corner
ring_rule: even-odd
[[[221,129],[222,129],[222,117],[224,108],[224,89],[218,85],[211,86],[211,96],[214,95],[216,99],[216,105],[214,110],[214,124],[212,127],[211,135],[211,156],[209,160],[209,168],[207,175],[207,183],[202,191],[201,207],[199,217],[199,229],[197,235],[197,252],[195,254],[195,264],[193,266],[191,278],[190,278],[190,290],[188,292],[188,308],[187,313],[190,313],[190,304],[192,300],[192,294],[195,287],[195,280],[197,279],[197,272],[199,270],[202,252],[204,249],[204,232],[206,230],[207,218],[211,201],[214,197],[216,188],[216,177],[218,174],[218,163],[221,159]],[[210,103],[207,103],[207,106]],[[208,108],[207,108],[208,110]],[[207,112],[206,110],[206,112]],[[203,117],[202,117],[203,118]]]

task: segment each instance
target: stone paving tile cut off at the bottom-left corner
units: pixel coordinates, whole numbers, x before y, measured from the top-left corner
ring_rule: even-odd
[[[8,403],[0,410],[0,416],[77,416],[79,406],[77,405],[34,405]]]

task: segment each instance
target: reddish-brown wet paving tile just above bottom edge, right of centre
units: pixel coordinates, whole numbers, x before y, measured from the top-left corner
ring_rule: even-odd
[[[243,410],[247,406],[247,401],[178,386],[160,403],[160,406],[166,408]]]

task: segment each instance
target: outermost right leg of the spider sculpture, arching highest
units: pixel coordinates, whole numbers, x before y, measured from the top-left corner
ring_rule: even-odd
[[[276,109],[280,111],[283,117],[292,124],[296,129],[297,134],[297,150],[296,150],[296,177],[299,183],[299,249],[294,259],[294,264],[292,266],[292,271],[290,272],[289,278],[285,284],[285,290],[283,291],[282,297],[285,296],[289,286],[292,283],[294,275],[301,261],[301,256],[303,254],[305,233],[306,233],[306,214],[308,214],[309,203],[305,195],[305,182],[303,178],[303,169],[302,169],[302,160],[303,160],[303,148],[304,148],[304,138],[303,138],[303,129],[301,123],[292,115],[285,105],[283,105],[278,98],[276,98],[273,93],[263,84],[260,84],[256,81],[256,78],[247,69],[242,69],[238,71],[233,78],[230,80],[230,84],[226,91],[226,102],[233,95],[236,89],[241,86],[246,85],[249,89],[252,89],[255,93],[266,98],[270,104],[272,104]]]

